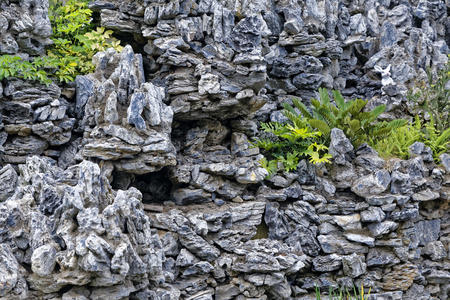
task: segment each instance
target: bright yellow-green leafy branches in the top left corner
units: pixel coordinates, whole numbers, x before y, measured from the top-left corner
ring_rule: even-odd
[[[49,18],[53,28],[53,45],[47,56],[30,61],[17,56],[0,56],[0,80],[18,77],[49,85],[52,80],[70,82],[77,75],[93,72],[92,56],[98,51],[114,48],[122,51],[120,41],[112,37],[111,30],[91,26],[92,11],[87,2],[69,0],[65,5],[53,1]]]

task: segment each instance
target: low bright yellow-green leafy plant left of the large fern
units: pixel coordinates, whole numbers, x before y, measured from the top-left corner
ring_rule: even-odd
[[[328,148],[317,143],[321,136],[318,131],[311,131],[306,122],[296,120],[293,124],[277,122],[261,123],[261,129],[270,138],[257,138],[253,142],[255,147],[263,149],[267,158],[259,162],[269,172],[271,177],[281,163],[287,172],[295,170],[301,158],[308,158],[310,162],[329,162],[331,155],[325,153]]]

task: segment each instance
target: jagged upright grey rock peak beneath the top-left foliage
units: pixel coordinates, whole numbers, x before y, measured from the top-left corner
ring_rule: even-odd
[[[102,81],[90,75],[76,81],[80,91],[76,111],[84,116],[84,126],[92,128],[83,155],[119,160],[118,170],[136,174],[175,165],[170,140],[173,112],[163,103],[164,88],[144,82],[140,54],[127,46],[120,54],[112,49],[99,52],[93,62]]]

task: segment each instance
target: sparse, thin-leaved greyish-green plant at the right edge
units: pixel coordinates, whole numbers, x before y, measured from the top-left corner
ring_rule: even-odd
[[[450,89],[446,88],[450,81],[450,60],[435,78],[430,68],[427,71],[427,81],[420,82],[414,90],[409,91],[407,98],[428,112],[437,130],[444,132],[450,128]]]

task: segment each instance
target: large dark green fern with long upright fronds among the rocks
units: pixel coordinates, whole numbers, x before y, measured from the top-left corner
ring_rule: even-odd
[[[329,143],[331,129],[339,128],[349,138],[355,147],[370,140],[381,140],[398,128],[403,127],[407,121],[403,119],[391,122],[378,122],[378,116],[384,112],[385,105],[380,105],[372,111],[364,111],[368,100],[354,99],[346,102],[339,91],[332,91],[336,106],[328,96],[328,91],[319,88],[320,98],[311,99],[312,113],[298,99],[294,99],[294,106],[284,103],[285,116],[294,124],[306,119],[309,126],[319,130],[324,137],[324,142]]]

